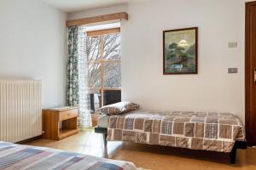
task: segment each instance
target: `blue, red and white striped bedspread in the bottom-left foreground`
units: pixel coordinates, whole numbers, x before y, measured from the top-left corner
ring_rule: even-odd
[[[137,170],[137,167],[126,161],[114,161],[63,150],[0,142],[0,169]]]

